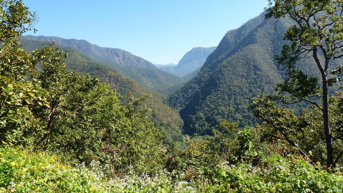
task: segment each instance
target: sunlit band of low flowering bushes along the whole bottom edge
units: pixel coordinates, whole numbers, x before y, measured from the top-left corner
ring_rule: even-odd
[[[3,142],[5,143],[5,142]],[[70,166],[45,152],[32,153],[13,145],[0,148],[0,192],[342,192],[341,172],[328,172],[318,162],[271,156],[258,166],[219,164],[187,179],[161,170],[154,176],[135,173],[109,178],[93,161]],[[172,178],[173,177],[173,178]]]

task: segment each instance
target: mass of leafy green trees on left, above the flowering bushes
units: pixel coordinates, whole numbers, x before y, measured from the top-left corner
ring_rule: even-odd
[[[69,162],[96,159],[111,165],[112,173],[132,166],[150,173],[160,168],[162,136],[143,105],[149,95],[130,95],[123,106],[121,96],[98,77],[68,70],[68,54],[54,44],[32,52],[22,49],[16,32],[27,30],[23,25],[34,21],[34,15],[21,1],[7,3],[4,12],[23,15],[13,30],[4,29],[8,36],[1,39],[0,140],[60,152]]]

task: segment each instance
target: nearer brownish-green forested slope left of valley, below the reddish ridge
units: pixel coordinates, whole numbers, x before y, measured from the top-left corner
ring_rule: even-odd
[[[26,38],[21,39],[20,42],[27,50],[40,49],[43,47],[42,44],[49,45],[49,42],[47,41],[37,41]],[[90,73],[98,76],[102,81],[108,83],[124,97],[124,103],[128,98],[130,98],[130,92],[132,92],[135,97],[152,92],[135,81],[121,75],[116,70],[85,56],[75,48],[59,45],[56,46],[69,54],[69,57],[66,58],[66,63],[69,69],[83,74]],[[157,126],[163,133],[167,134],[165,140],[170,141],[170,136],[180,136],[178,129],[176,128],[181,127],[183,121],[176,110],[172,110],[170,107],[162,103],[161,95],[153,93],[151,97],[146,99],[145,104],[147,107],[152,109],[152,120],[155,123],[155,126]]]

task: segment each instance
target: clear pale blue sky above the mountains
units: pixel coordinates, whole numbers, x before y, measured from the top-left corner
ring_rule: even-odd
[[[259,15],[268,3],[267,0],[23,2],[39,14],[35,35],[85,39],[98,46],[129,51],[154,64],[178,63],[193,47],[217,46],[227,31]]]

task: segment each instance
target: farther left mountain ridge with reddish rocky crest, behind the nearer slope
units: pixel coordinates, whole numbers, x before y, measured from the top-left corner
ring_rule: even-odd
[[[23,36],[22,39],[55,42],[64,47],[76,48],[84,55],[114,68],[122,75],[155,92],[164,93],[169,87],[183,82],[180,77],[159,70],[151,62],[125,50],[104,48],[92,45],[86,40],[64,39],[60,37],[27,35]]]

